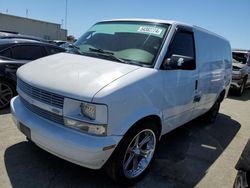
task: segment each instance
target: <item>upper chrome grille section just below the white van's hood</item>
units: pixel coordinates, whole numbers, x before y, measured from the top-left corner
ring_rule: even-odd
[[[22,92],[35,100],[61,109],[63,108],[64,97],[61,95],[33,87],[20,79],[17,80],[17,86]]]

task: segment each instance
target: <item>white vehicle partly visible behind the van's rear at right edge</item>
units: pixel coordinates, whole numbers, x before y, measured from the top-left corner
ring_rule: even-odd
[[[241,96],[250,86],[250,50],[233,50],[231,89]]]

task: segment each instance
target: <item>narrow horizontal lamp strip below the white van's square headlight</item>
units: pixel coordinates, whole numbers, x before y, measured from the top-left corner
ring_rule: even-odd
[[[87,122],[81,122],[69,118],[64,118],[64,125],[89,134],[100,135],[100,136],[107,135],[107,125],[90,124]]]

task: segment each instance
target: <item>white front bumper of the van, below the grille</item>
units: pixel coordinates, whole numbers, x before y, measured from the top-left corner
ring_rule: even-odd
[[[20,130],[20,123],[30,129],[31,140],[42,149],[72,163],[100,169],[111,156],[121,136],[91,136],[46,120],[24,107],[19,97],[11,100],[11,113]]]

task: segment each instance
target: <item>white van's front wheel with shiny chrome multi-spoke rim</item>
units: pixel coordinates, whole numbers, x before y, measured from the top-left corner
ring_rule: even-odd
[[[136,183],[148,171],[158,140],[159,131],[155,123],[137,124],[125,134],[106,163],[106,173],[119,185]]]

